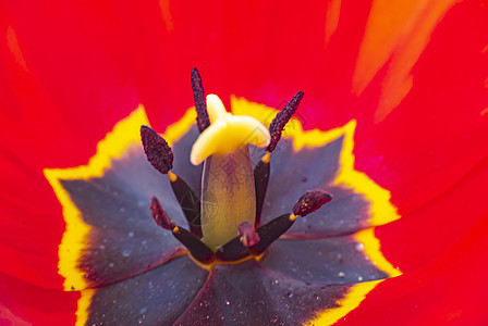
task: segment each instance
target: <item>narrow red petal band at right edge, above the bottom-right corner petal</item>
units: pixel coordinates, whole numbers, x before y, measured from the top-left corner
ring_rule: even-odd
[[[435,260],[465,237],[476,221],[488,212],[487,179],[488,158],[441,198],[377,228],[382,252],[404,272]],[[480,250],[483,252],[484,247],[480,246]]]

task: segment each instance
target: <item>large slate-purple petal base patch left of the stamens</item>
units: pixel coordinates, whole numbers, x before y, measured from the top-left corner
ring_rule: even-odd
[[[157,196],[175,223],[186,224],[168,177],[148,165],[141,147],[111,166],[101,178],[61,180],[89,226],[78,265],[89,287],[125,279],[184,251],[170,233],[155,227],[147,210]]]

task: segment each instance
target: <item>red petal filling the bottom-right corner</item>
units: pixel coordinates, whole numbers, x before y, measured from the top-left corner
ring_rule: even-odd
[[[484,325],[487,217],[428,265],[380,284],[338,325]]]

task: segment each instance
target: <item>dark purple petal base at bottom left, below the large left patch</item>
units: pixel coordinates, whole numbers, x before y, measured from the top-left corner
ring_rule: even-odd
[[[103,287],[87,299],[90,305],[86,325],[170,325],[191,304],[207,275],[207,271],[183,256]],[[90,296],[85,292],[82,296]]]

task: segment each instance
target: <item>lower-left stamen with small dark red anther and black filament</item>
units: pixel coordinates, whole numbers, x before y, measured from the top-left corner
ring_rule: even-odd
[[[150,198],[150,212],[155,222],[163,229],[171,230],[173,237],[186,247],[193,258],[204,264],[208,264],[213,261],[213,251],[205,246],[205,243],[202,242],[194,234],[181,226],[176,226],[171,217],[164,212],[159,200],[154,196]]]

